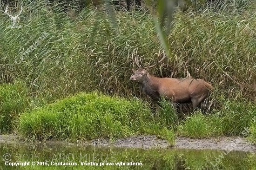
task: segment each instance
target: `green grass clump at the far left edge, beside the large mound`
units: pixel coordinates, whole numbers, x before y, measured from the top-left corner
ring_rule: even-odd
[[[23,82],[0,84],[0,134],[14,131],[17,118],[29,109],[29,102],[28,89]]]

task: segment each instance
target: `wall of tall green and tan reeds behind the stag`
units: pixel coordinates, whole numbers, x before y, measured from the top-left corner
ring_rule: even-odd
[[[138,47],[147,65],[162,50],[148,13],[116,12],[120,30],[116,34],[104,12],[85,8],[73,19],[57,7],[42,4],[38,8],[36,16],[21,14],[23,27],[19,29],[6,28],[9,17],[0,14],[4,32],[0,37],[1,82],[23,79],[34,95],[49,93],[52,100],[92,90],[143,97],[138,85],[129,81],[135,67],[131,52]],[[255,100],[255,13],[177,11],[174,17],[168,36],[172,58],[150,73],[180,78],[189,71],[193,78],[209,81],[218,89],[217,95]],[[46,30],[49,36],[15,65],[14,60]]]

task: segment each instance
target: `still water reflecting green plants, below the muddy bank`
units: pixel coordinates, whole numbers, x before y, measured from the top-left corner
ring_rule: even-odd
[[[18,165],[20,161],[23,165],[27,162],[27,165]],[[13,169],[256,170],[256,154],[171,148],[144,150],[79,144],[0,144],[0,170]]]

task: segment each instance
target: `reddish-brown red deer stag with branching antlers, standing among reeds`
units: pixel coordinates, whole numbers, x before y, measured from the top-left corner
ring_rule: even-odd
[[[135,51],[133,52],[135,53]],[[163,52],[163,57],[159,59],[160,53],[158,54],[157,61],[154,65],[148,66],[147,68],[143,65],[139,65],[137,52],[135,53],[136,58],[132,60],[139,67],[139,70],[132,69],[134,74],[130,80],[140,84],[141,89],[153,101],[158,102],[161,97],[171,99],[174,104],[176,103],[192,103],[193,110],[201,105],[201,103],[208,97],[209,91],[213,88],[207,82],[202,79],[194,78],[158,78],[148,74],[148,69],[155,67],[161,63],[167,56]],[[142,67],[142,68],[141,68]]]

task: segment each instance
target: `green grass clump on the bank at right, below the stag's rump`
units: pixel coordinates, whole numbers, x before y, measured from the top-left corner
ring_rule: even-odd
[[[251,130],[249,139],[255,140],[256,105],[245,100],[223,101],[222,109],[210,115],[195,112],[179,126],[185,136],[203,138],[213,136],[239,136],[245,128]],[[247,137],[247,136],[246,136]]]

